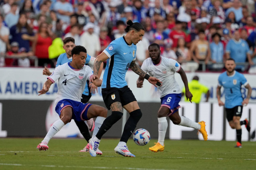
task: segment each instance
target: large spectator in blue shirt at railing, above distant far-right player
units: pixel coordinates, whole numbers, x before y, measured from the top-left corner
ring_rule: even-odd
[[[250,49],[248,43],[240,38],[240,33],[238,30],[234,32],[234,39],[228,41],[226,47],[226,58],[232,58],[236,63],[246,63],[246,58],[250,65],[253,65],[250,54]],[[236,65],[237,71],[244,71],[246,67],[244,65]]]

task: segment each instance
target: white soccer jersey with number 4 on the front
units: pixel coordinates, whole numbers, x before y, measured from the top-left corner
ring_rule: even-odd
[[[58,92],[55,105],[63,99],[81,102],[86,80],[89,80],[92,75],[92,69],[87,65],[82,69],[74,69],[68,62],[56,67],[52,74],[48,76],[48,79],[51,80],[52,83],[58,80]]]

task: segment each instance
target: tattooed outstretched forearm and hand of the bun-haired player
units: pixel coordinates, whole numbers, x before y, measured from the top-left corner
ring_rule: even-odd
[[[158,86],[162,86],[162,82],[160,80],[158,80],[155,77],[149,76],[148,74],[146,74],[146,72],[144,72],[136,63],[135,61],[132,61],[130,66],[130,69],[132,69],[133,72],[135,72],[136,74],[138,74],[141,77],[144,77],[145,79],[148,80],[148,82],[150,82],[151,84],[153,84],[154,86],[158,85]],[[146,76],[146,77],[145,77]],[[157,87],[157,86],[156,86]]]

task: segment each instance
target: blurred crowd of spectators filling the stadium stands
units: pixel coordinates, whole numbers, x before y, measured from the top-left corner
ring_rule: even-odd
[[[0,0],[0,13],[0,66],[34,66],[36,56],[55,67],[65,37],[97,57],[132,20],[146,29],[139,66],[158,43],[185,71],[222,71],[231,57],[236,70],[256,72],[254,0]]]

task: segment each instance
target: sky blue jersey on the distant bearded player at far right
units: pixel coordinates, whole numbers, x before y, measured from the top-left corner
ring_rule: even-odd
[[[224,87],[225,107],[231,109],[235,106],[242,106],[243,98],[241,86],[248,84],[243,74],[235,71],[232,76],[228,76],[227,72],[220,74],[218,78],[218,86]]]

